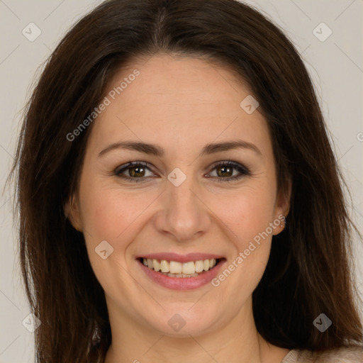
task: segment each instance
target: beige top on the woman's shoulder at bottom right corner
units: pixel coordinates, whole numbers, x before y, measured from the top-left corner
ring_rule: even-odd
[[[290,350],[281,363],[363,363],[363,345],[327,350],[320,355],[310,350]]]

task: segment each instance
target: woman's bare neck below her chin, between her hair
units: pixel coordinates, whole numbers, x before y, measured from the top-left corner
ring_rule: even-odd
[[[289,352],[269,345],[259,335],[252,305],[243,307],[220,328],[199,334],[185,330],[179,337],[167,335],[150,325],[139,325],[130,315],[117,311],[109,301],[108,313],[112,344],[105,363],[280,363]]]

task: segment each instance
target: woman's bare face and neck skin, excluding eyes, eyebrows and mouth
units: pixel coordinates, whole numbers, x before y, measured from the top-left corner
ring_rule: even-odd
[[[106,363],[281,362],[289,350],[264,341],[252,315],[252,292],[281,225],[217,287],[170,290],[135,261],[152,252],[205,252],[224,256],[227,266],[269,223],[287,215],[290,191],[288,198],[277,192],[267,123],[258,108],[247,114],[240,107],[251,93],[227,67],[158,54],[123,67],[108,89],[135,68],[140,75],[94,121],[79,190],[66,206],[106,294],[113,340]],[[235,149],[199,156],[208,143],[236,139],[255,144],[261,155]],[[157,144],[165,154],[114,149],[99,156],[123,140]],[[251,175],[223,181],[213,165],[228,160]],[[130,161],[148,163],[144,181],[113,174]],[[176,167],[186,175],[179,186],[167,179]],[[130,177],[129,171],[123,175]],[[94,251],[102,240],[113,247],[106,259]],[[175,313],[185,321],[178,332],[168,324]]]

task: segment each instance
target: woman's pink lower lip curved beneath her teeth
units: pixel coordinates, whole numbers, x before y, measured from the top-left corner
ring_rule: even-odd
[[[218,271],[225,263],[225,259],[220,260],[213,269],[205,271],[196,277],[169,277],[160,272],[156,272],[154,269],[149,269],[149,267],[146,267],[140,259],[138,259],[137,262],[143,269],[143,272],[147,274],[147,277],[157,284],[172,290],[192,290],[210,283],[218,275]]]

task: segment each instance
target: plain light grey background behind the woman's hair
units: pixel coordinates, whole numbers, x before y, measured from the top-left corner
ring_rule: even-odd
[[[352,193],[352,218],[363,232],[363,1],[246,2],[261,9],[279,24],[301,52],[318,91],[337,159]],[[0,0],[1,191],[13,161],[21,111],[30,95],[35,71],[42,69],[41,65],[65,31],[100,3],[86,0]],[[22,33],[31,22],[41,30],[40,36],[33,42]],[[322,22],[333,32],[325,41],[315,36],[323,39],[328,35],[328,28],[318,26]],[[30,30],[27,31],[30,33]],[[35,34],[34,30],[32,34]],[[22,324],[30,311],[16,255],[12,196],[13,190],[5,189],[0,199],[0,363],[25,363],[34,359],[33,333]],[[357,238],[354,243],[357,284],[363,296],[362,243]]]

